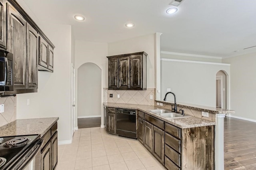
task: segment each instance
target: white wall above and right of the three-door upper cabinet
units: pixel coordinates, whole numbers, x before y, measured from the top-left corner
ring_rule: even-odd
[[[155,88],[155,40],[154,34],[140,36],[120,42],[108,43],[108,55],[119,55],[145,51],[147,57],[147,88]],[[106,86],[107,87],[107,86]]]

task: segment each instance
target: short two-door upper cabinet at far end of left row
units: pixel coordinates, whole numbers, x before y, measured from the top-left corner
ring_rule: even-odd
[[[39,37],[38,70],[53,72],[53,47],[42,36]]]

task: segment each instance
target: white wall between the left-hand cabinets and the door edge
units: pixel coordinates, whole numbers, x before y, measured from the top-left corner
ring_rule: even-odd
[[[71,140],[71,26],[40,23],[40,28],[56,46],[54,72],[38,71],[38,93],[17,95],[17,119],[59,117],[58,140]]]

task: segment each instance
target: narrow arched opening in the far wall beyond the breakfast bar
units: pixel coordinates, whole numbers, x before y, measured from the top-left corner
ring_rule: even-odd
[[[216,107],[227,109],[228,106],[228,75],[225,71],[216,73]]]

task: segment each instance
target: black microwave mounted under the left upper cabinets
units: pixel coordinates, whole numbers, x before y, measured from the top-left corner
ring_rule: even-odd
[[[13,54],[0,49],[0,91],[13,91]]]

